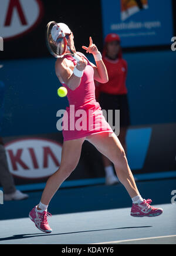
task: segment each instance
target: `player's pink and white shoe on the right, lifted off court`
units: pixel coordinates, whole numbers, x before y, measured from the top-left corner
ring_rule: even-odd
[[[162,208],[154,208],[151,206],[151,199],[147,199],[141,204],[133,204],[131,208],[131,216],[133,217],[155,217],[163,214]]]

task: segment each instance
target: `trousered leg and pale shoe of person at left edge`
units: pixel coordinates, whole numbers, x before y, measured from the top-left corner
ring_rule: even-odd
[[[4,201],[22,200],[28,198],[28,195],[15,188],[15,183],[8,168],[5,147],[0,143],[0,183],[4,190]]]

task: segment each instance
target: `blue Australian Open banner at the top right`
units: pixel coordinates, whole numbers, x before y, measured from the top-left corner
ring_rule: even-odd
[[[101,0],[101,4],[104,37],[119,34],[123,47],[170,44],[171,0]]]

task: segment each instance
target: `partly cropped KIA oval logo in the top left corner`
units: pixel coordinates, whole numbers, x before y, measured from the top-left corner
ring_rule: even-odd
[[[42,15],[41,0],[0,0],[0,36],[9,40],[31,31]]]

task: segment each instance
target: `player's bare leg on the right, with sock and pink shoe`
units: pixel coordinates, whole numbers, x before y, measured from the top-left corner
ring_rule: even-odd
[[[131,216],[134,217],[154,217],[163,213],[163,209],[150,206],[151,199],[143,199],[137,189],[133,174],[128,166],[126,154],[116,134],[109,133],[92,134],[86,137],[103,155],[113,162],[120,182],[130,195],[133,205]]]

